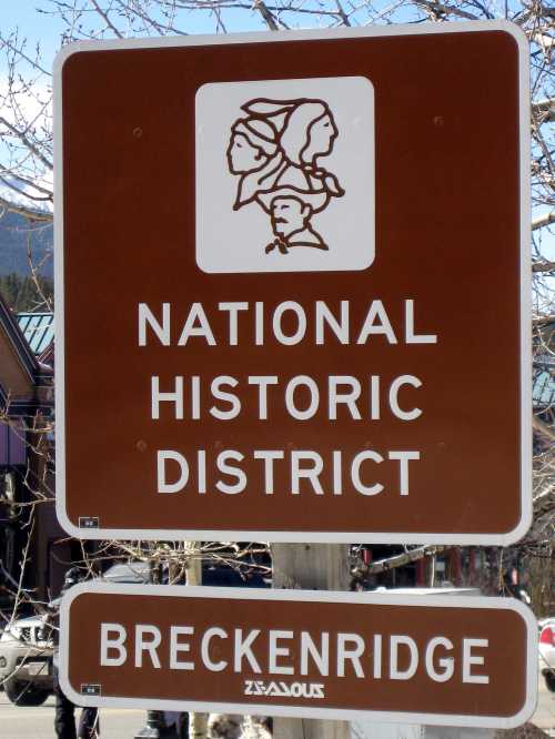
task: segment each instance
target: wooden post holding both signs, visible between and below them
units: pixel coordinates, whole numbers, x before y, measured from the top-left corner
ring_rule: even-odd
[[[273,587],[306,590],[347,590],[349,545],[272,545]],[[275,739],[349,739],[347,721],[274,719]]]

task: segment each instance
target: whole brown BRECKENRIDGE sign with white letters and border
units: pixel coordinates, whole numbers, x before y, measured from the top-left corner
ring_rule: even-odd
[[[504,598],[85,584],[60,679],[79,706],[512,728],[536,630]]]

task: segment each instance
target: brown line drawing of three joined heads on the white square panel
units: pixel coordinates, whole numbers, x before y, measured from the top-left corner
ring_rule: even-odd
[[[228,169],[239,175],[233,210],[256,203],[270,216],[275,240],[265,247],[266,253],[278,247],[286,254],[291,246],[301,245],[327,250],[310,220],[332,198],[345,194],[335,174],[317,161],[331,154],[339,136],[329,104],[309,98],[256,98],[241,110],[246,117],[232,124],[226,149]],[[290,199],[291,213],[297,201],[301,227],[281,226],[281,219],[275,217],[276,198]]]

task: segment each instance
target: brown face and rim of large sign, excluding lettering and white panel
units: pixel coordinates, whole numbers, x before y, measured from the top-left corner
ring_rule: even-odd
[[[373,540],[461,544],[522,536],[529,516],[527,493],[524,504],[521,497],[521,478],[527,479],[521,434],[528,423],[519,368],[522,57],[506,29],[464,27],[309,40],[272,34],[280,39],[272,43],[258,37],[159,48],[99,44],[59,62],[63,214],[58,212],[57,311],[63,326],[57,363],[64,381],[57,496],[70,533],[264,533],[276,540],[372,533]],[[201,272],[194,249],[199,88],[335,75],[366,75],[375,91],[372,266],[312,274]],[[352,326],[360,327],[371,301],[381,300],[402,336],[406,298],[415,302],[417,331],[436,334],[437,344],[390,345],[374,336],[365,345],[282,346],[266,334],[263,347],[248,341],[214,347],[194,338],[186,346],[138,345],[140,302],[159,311],[170,303],[176,337],[193,302],[203,304],[214,334],[225,336],[220,301],[262,301],[271,313],[285,300],[304,306],[325,300],[336,310],[349,300]],[[386,384],[405,373],[423,382],[407,391],[423,409],[413,422],[391,414],[380,421],[341,414],[330,422],[325,404],[303,423],[274,405],[264,422],[249,403],[225,423],[206,415],[175,421],[168,408],[160,421],[150,418],[153,375],[169,388],[175,375],[210,381],[229,374],[244,383],[251,374],[285,381],[307,374],[325,386],[332,374],[374,374]],[[218,492],[209,470],[208,492],[198,495],[193,469],[186,492],[158,494],[157,451],[189,457],[198,448],[209,456],[242,452],[246,490]],[[253,448],[315,449],[325,459],[334,449],[349,458],[367,448],[418,449],[421,460],[411,466],[405,497],[392,464],[364,473],[384,485],[373,497],[352,489],[333,496],[329,466],[321,476],[325,495],[307,486],[292,496],[282,464],[270,496],[263,494],[261,463],[249,458]],[[98,530],[80,528],[82,517]]]

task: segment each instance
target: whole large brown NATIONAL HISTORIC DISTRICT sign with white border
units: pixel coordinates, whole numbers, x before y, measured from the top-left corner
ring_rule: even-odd
[[[62,51],[69,533],[524,534],[526,54],[500,22]]]

